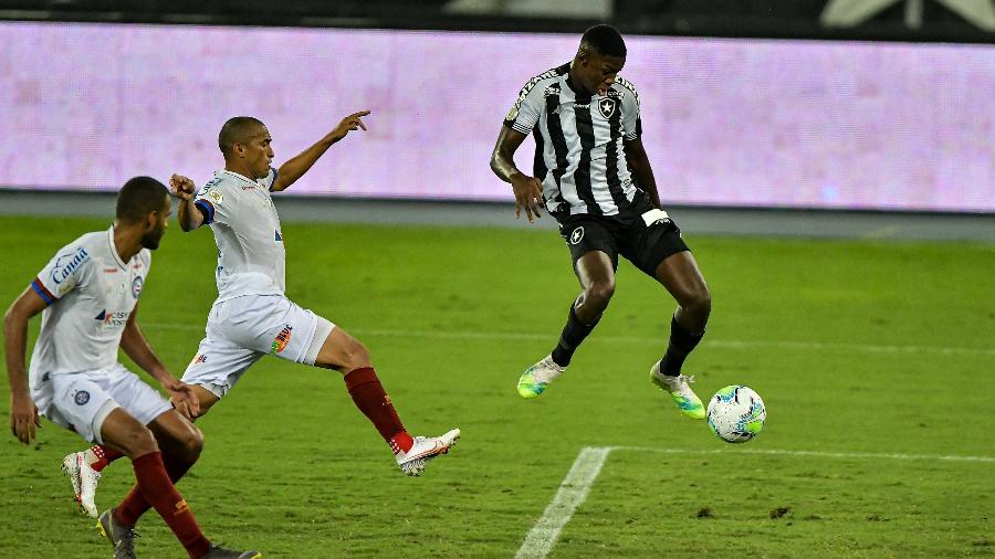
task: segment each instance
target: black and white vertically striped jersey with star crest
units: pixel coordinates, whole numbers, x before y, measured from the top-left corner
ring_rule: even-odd
[[[642,134],[639,95],[620,76],[604,96],[574,91],[569,70],[567,63],[530,80],[504,126],[526,135],[535,130],[533,173],[543,182],[551,214],[625,213],[642,199],[624,144]]]

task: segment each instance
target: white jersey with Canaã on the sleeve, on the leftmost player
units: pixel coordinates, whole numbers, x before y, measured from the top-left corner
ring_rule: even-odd
[[[31,282],[48,305],[28,368],[33,388],[49,375],[107,369],[117,362],[121,335],[150,265],[147,249],[122,262],[113,226],[86,233],[55,253]]]

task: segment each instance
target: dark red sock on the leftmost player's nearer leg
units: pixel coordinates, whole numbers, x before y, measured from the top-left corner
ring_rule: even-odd
[[[133,460],[132,465],[135,467],[135,478],[142,495],[151,503],[163,520],[169,525],[184,549],[190,553],[190,557],[207,555],[211,544],[197,526],[197,519],[193,518],[193,513],[190,511],[187,502],[169,481],[166,466],[163,464],[163,455],[153,452]],[[116,509],[115,513],[117,513]],[[134,526],[134,524],[125,523],[119,515],[118,519],[125,526]]]

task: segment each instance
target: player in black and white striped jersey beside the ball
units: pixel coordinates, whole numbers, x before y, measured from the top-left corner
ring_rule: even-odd
[[[681,232],[660,208],[657,182],[640,136],[639,95],[618,73],[626,44],[610,25],[580,39],[574,60],[525,84],[504,119],[491,168],[515,194],[515,218],[530,222],[541,207],[559,223],[580,282],[553,351],[523,372],[517,390],[535,398],[570,363],[615,293],[619,254],[677,299],[670,342],[650,368],[653,383],[682,413],[704,419],[701,400],[681,366],[704,336],[711,295]],[[534,170],[514,162],[528,134],[536,144]]]

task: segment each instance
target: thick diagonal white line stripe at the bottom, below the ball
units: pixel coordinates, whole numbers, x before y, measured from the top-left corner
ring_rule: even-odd
[[[559,484],[559,491],[546,507],[542,518],[540,518],[532,530],[525,536],[525,541],[515,553],[516,559],[524,558],[542,558],[546,557],[556,539],[559,537],[559,530],[574,516],[574,510],[587,498],[590,485],[601,472],[605,458],[611,452],[610,446],[591,447],[586,446],[580,450],[577,460],[574,461],[569,473]]]

